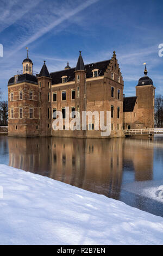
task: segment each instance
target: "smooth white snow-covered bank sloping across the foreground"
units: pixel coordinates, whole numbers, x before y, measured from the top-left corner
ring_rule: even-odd
[[[162,245],[163,218],[0,164],[2,245]]]

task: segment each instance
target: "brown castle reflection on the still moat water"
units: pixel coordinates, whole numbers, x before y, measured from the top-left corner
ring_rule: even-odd
[[[153,179],[153,147],[125,138],[8,138],[9,166],[119,199],[125,172]],[[144,147],[147,150],[144,150]]]

